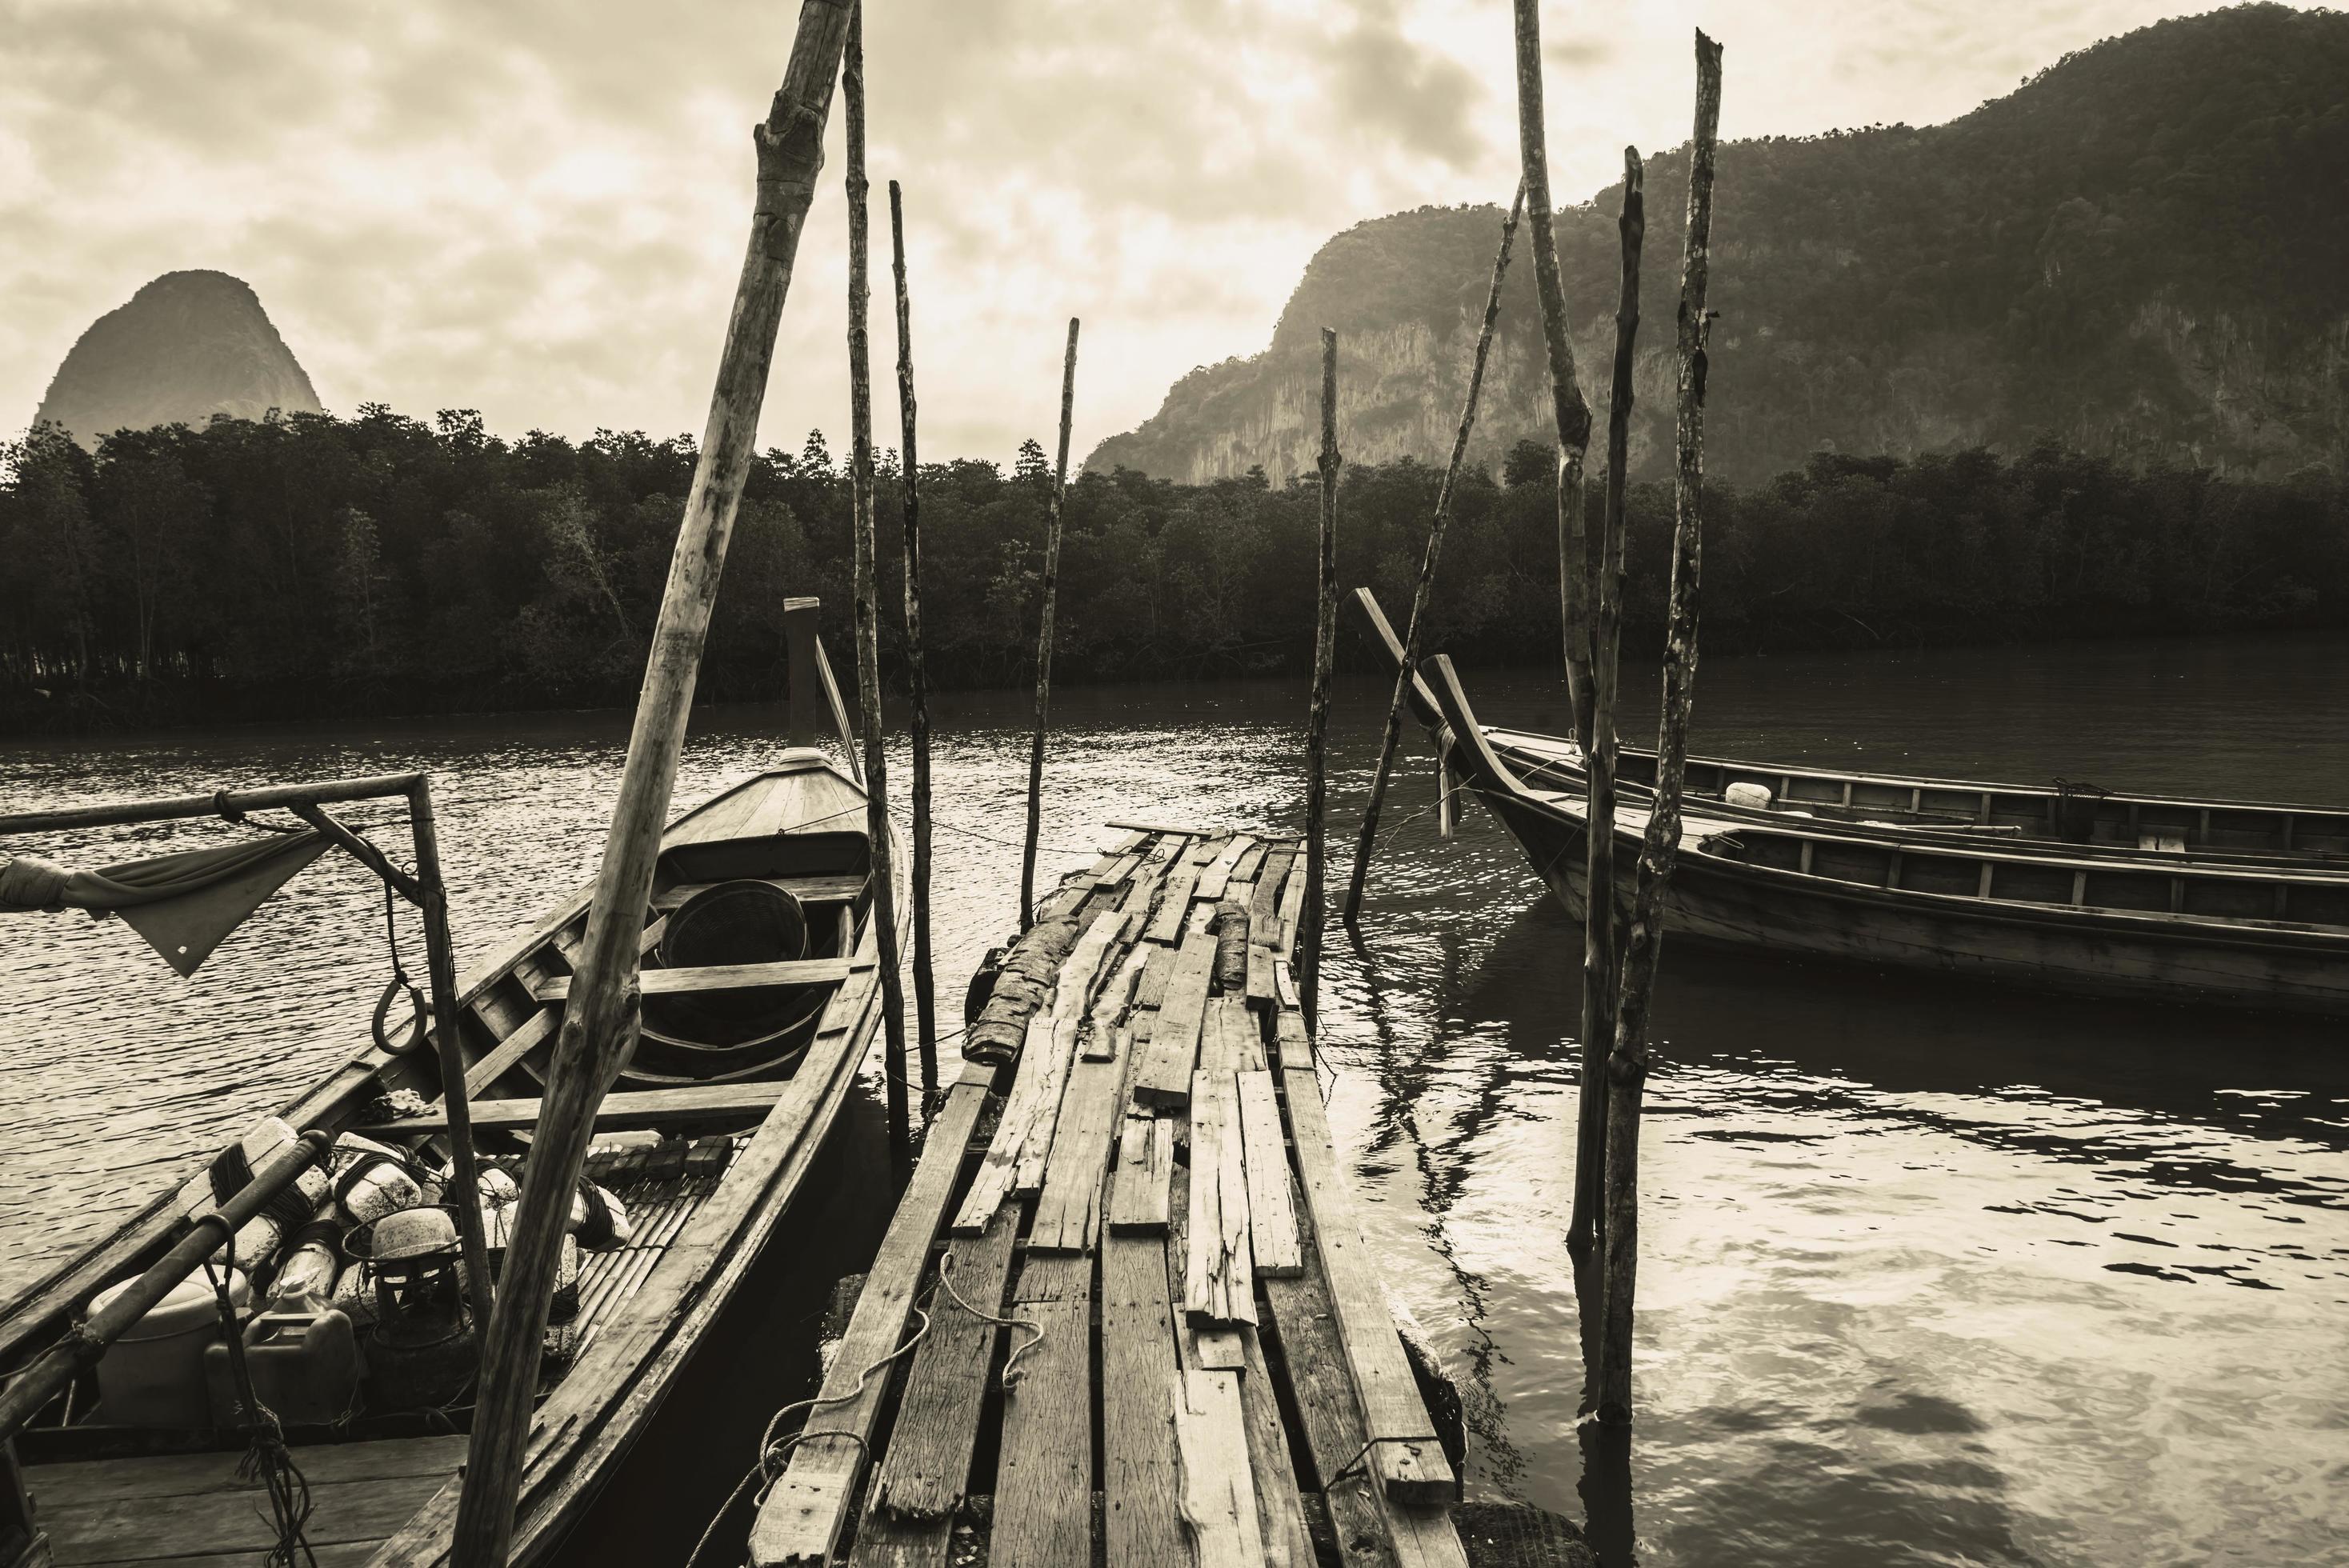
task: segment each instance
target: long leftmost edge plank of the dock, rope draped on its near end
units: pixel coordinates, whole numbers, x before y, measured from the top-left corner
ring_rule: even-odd
[[[980,1084],[963,1082],[947,1091],[944,1108],[930,1122],[921,1164],[914,1167],[914,1181],[907,1183],[864,1277],[848,1333],[841,1336],[832,1371],[824,1373],[822,1397],[846,1397],[867,1366],[904,1340],[930,1244],[947,1218],[954,1183],[963,1174],[963,1150],[984,1103],[987,1089]],[[888,1378],[871,1378],[855,1399],[817,1406],[808,1415],[806,1437],[792,1448],[789,1469],[768,1491],[752,1523],[749,1556],[759,1568],[832,1561],[886,1390]]]

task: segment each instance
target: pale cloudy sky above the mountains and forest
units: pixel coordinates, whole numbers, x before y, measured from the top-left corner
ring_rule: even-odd
[[[1929,124],[2163,0],[1543,7],[1555,195],[1687,138]],[[2185,7],[2194,9],[2194,7]],[[139,284],[254,284],[329,408],[698,432],[792,0],[0,0],[0,427]],[[871,0],[876,254],[907,190],[923,455],[1076,455],[1250,354],[1332,232],[1515,185],[1506,0]],[[766,401],[846,432],[839,113]],[[886,265],[886,261],[883,261]],[[879,282],[886,300],[886,272]],[[876,359],[895,338],[876,319]],[[886,380],[883,380],[886,392]],[[883,411],[883,430],[893,413]]]

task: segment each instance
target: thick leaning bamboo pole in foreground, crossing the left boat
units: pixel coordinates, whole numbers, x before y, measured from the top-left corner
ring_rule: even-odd
[[[803,0],[792,63],[768,117],[752,131],[759,190],[749,246],[735,286],[726,347],[709,394],[693,488],[686,495],[669,582],[644,667],[644,692],[627,742],[627,765],[613,803],[604,866],[587,913],[587,939],[564,1026],[554,1038],[547,1094],[524,1167],[514,1242],[505,1253],[498,1312],[482,1347],[482,1399],[474,1408],[458,1500],[456,1568],[503,1568],[514,1530],[514,1488],[521,1481],[524,1437],[538,1392],[538,1352],[547,1326],[554,1263],[571,1214],[571,1192],[587,1160],[594,1108],[637,1038],[637,939],[653,892],[660,829],[677,786],[677,753],[686,739],[693,681],[700,674],[709,608],[716,601],[726,540],[749,477],[766,399],[775,326],[792,291],[792,263],[815,176],[824,164],[824,120],[832,82],[841,70],[848,9]]]

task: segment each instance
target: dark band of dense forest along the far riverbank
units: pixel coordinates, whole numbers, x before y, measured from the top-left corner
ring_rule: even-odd
[[[505,441],[470,411],[425,425],[383,406],[117,432],[96,453],[35,427],[0,448],[0,728],[625,704],[693,460],[686,437]],[[1520,444],[1499,474],[1466,477],[1433,646],[1555,657],[1553,474],[1548,448]],[[1369,582],[1400,613],[1440,479],[1412,460],[1344,472],[1344,584]],[[940,678],[1027,678],[1048,493],[1034,441],[1008,474],[923,465]],[[1304,669],[1315,519],[1308,484],[1085,472],[1066,502],[1057,671]],[[1635,655],[1658,638],[1670,521],[1668,486],[1633,486]],[[895,472],[881,526],[893,561]],[[787,594],[820,594],[846,650],[848,582],[843,462],[822,434],[768,451],[735,523],[702,697],[782,690]],[[1816,455],[1708,500],[1710,650],[2340,624],[2342,606],[2349,493],[2314,472],[2135,474],[2053,446]]]

